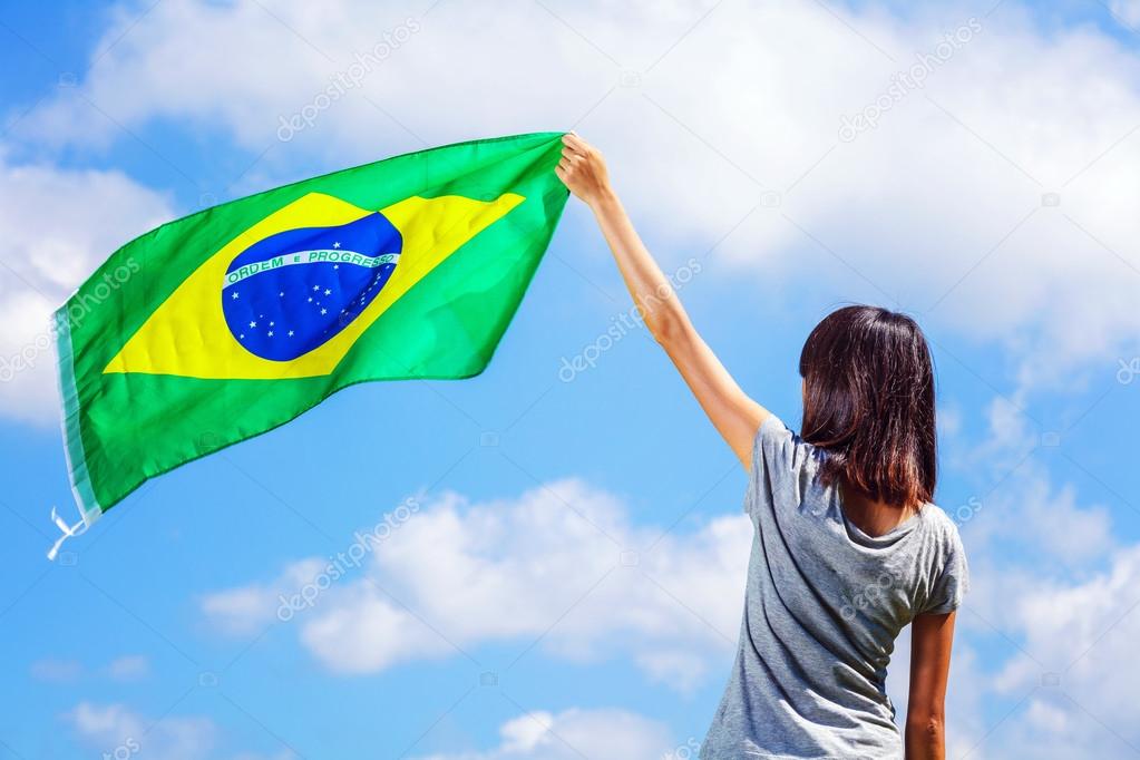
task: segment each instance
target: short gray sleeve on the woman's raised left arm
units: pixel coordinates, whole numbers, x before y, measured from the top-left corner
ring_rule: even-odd
[[[812,448],[775,415],[769,415],[760,425],[752,443],[744,499],[744,510],[756,525],[760,525],[765,516],[799,504],[801,475]]]

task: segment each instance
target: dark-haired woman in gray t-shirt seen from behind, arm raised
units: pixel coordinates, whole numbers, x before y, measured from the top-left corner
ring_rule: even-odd
[[[556,173],[589,205],[653,336],[749,472],[756,528],[740,645],[701,747],[739,758],[943,758],[954,611],[969,581],[930,504],[934,371],[918,325],[848,307],[804,345],[803,438],[748,398],[701,340],[610,186],[563,138]],[[887,663],[911,624],[905,739]]]

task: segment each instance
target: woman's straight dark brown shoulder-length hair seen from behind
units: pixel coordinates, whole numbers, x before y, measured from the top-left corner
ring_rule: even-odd
[[[822,475],[898,507],[934,498],[934,366],[918,324],[877,307],[828,314],[804,343],[803,436]]]

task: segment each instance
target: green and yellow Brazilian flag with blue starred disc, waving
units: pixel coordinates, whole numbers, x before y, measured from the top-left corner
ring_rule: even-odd
[[[116,251],[55,314],[65,532],[353,383],[481,373],[565,205],[561,137],[348,169]]]

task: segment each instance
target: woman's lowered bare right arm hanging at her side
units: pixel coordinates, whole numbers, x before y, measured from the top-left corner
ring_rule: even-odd
[[[943,760],[946,757],[946,679],[954,641],[954,614],[919,615],[911,623],[906,760]]]

